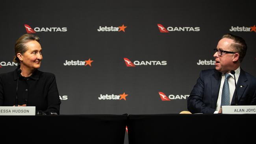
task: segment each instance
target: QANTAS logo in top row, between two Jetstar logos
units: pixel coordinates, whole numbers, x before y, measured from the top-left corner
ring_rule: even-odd
[[[161,25],[157,24],[160,33],[169,33],[169,31],[200,31],[200,27],[172,27],[169,26],[167,29]]]

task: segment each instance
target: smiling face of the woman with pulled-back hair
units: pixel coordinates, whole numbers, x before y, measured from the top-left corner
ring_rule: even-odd
[[[29,41],[26,45],[28,50],[22,54],[22,64],[30,69],[39,68],[43,59],[41,45],[37,41]]]

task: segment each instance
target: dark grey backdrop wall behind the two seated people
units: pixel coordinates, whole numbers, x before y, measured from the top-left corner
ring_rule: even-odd
[[[166,96],[189,95],[201,70],[214,60],[213,48],[226,33],[243,37],[248,45],[241,68],[256,76],[256,24],[254,0],[2,0],[0,4],[0,73],[16,66],[15,41],[33,30],[41,38],[43,61],[39,70],[56,75],[62,100],[61,114],[163,114],[187,110],[187,99],[162,101]],[[127,26],[124,31],[98,31],[99,27]],[[199,27],[200,31],[160,33],[168,27]],[[249,31],[230,31],[233,27]],[[127,67],[134,63],[166,61],[167,65]],[[89,65],[65,66],[65,61]],[[126,100],[99,100],[100,95],[128,94]],[[177,96],[178,95],[178,96]],[[187,98],[187,97],[186,97]]]

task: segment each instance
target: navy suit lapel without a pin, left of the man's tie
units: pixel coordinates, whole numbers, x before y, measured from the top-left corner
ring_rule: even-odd
[[[211,107],[213,107],[214,109],[216,109],[220,86],[221,86],[221,72],[214,70],[214,74],[212,74],[211,76]]]

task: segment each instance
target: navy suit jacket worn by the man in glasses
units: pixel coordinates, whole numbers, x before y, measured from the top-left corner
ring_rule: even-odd
[[[191,113],[211,113],[216,109],[221,85],[221,72],[215,69],[202,70],[197,83],[187,99]],[[238,105],[256,105],[256,78],[240,70],[237,81]],[[231,105],[235,104],[235,93]]]

